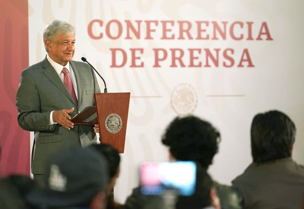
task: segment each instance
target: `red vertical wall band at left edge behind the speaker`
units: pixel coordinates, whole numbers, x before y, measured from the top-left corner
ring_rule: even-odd
[[[0,175],[30,174],[29,132],[17,122],[16,92],[29,66],[28,1],[0,3]]]

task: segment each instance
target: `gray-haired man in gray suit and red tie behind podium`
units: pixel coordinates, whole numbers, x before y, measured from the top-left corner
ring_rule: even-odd
[[[91,67],[72,61],[75,53],[75,28],[59,20],[50,22],[43,33],[46,58],[21,73],[16,96],[18,123],[34,131],[32,173],[39,180],[44,162],[59,149],[71,145],[96,143],[98,128],[74,126],[71,117],[95,105],[100,93]]]

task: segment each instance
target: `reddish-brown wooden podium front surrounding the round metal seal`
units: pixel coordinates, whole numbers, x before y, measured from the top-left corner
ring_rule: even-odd
[[[118,149],[119,153],[123,153],[125,149],[130,92],[95,93],[94,98],[101,143],[110,144]],[[117,133],[110,133],[105,127],[105,120],[111,114],[117,114],[121,118],[121,129]]]

